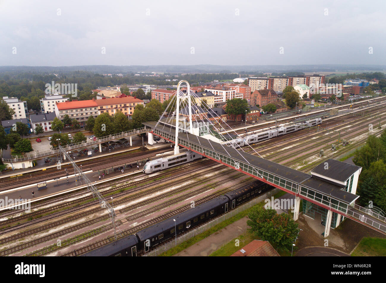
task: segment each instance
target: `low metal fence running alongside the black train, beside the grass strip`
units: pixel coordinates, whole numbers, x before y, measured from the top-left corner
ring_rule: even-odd
[[[231,218],[232,216],[235,216],[236,214],[244,211],[245,209],[251,208],[252,206],[256,205],[257,203],[260,203],[261,201],[263,201],[264,199],[271,198],[271,196],[276,194],[278,191],[280,191],[280,189],[275,188],[269,192],[266,192],[266,193],[262,194],[261,196],[259,196],[258,198],[254,198],[251,201],[249,201],[248,203],[245,203],[236,209],[232,209],[228,213],[225,213],[222,216],[220,216],[216,219],[213,219],[212,221],[210,221],[210,222],[208,222],[208,223],[206,223],[198,228],[195,228],[195,229],[191,230],[190,232],[183,234],[182,236],[179,236],[177,238],[177,245],[185,242],[186,240],[188,240],[190,238],[195,237],[198,234],[201,234],[201,233],[207,231],[208,229],[212,228],[213,226],[216,226],[217,224]],[[170,250],[171,248],[174,248],[175,246],[176,246],[176,241],[173,239],[173,240],[168,241],[165,244],[162,244],[161,246],[159,246],[155,250],[149,251],[144,256],[159,256],[162,253]]]

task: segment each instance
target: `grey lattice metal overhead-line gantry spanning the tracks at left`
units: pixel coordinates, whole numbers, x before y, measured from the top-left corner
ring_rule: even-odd
[[[78,165],[76,165],[76,163],[71,159],[71,157],[64,150],[64,148],[59,145],[59,149],[63,153],[63,155],[68,158],[69,162],[71,162],[71,165],[74,168],[75,179],[79,179],[82,184],[84,182],[87,185],[87,190],[93,194],[94,199],[98,198],[100,206],[102,208],[107,209],[108,217],[110,218],[110,221],[112,221],[114,227],[114,239],[115,241],[117,241],[117,225],[115,223],[116,214],[114,212],[114,208],[105,200],[105,198],[103,198],[102,194],[99,193],[97,187],[93,183],[91,183],[90,179],[88,179],[87,176],[83,173],[83,171],[78,167]]]

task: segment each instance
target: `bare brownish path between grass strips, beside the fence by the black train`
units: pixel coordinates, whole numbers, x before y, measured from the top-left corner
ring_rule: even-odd
[[[245,233],[247,228],[249,228],[247,220],[248,217],[244,216],[174,256],[208,256],[218,250],[223,244],[229,243],[237,236]]]

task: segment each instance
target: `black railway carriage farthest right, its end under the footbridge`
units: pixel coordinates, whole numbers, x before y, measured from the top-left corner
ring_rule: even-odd
[[[245,201],[249,201],[258,194],[261,194],[262,191],[270,188],[274,187],[262,181],[256,180],[240,189],[235,189],[234,191],[226,193],[224,196],[229,198],[229,208],[234,209],[236,206],[239,206]]]

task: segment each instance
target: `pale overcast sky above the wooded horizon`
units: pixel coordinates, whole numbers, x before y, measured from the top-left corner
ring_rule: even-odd
[[[0,0],[0,65],[386,65],[385,8],[384,0]]]

